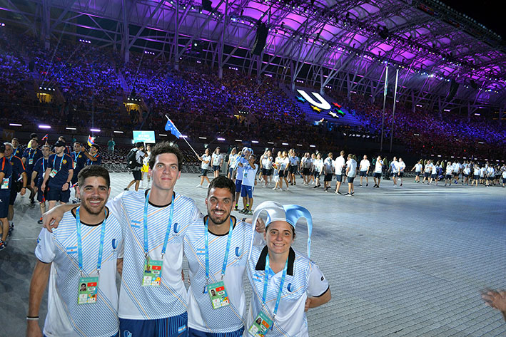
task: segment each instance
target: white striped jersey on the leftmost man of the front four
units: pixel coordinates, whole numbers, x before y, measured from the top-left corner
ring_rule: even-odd
[[[96,276],[101,224],[81,226],[84,277]],[[35,249],[37,259],[51,264],[48,312],[44,335],[48,337],[103,336],[118,332],[118,290],[116,260],[121,258],[123,239],[118,220],[109,214],[103,240],[102,267],[95,304],[77,304],[79,262],[76,218],[66,212],[51,234],[42,229]]]

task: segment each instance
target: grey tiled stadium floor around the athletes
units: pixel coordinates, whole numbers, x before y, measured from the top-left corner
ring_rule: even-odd
[[[113,197],[131,175],[111,175]],[[183,174],[176,190],[205,211],[206,189],[196,188],[198,181]],[[485,306],[480,290],[506,287],[506,189],[427,186],[412,178],[403,187],[388,180],[380,189],[372,185],[355,187],[355,197],[302,185],[289,192],[255,188],[255,204],[272,199],[313,214],[311,257],[333,298],[308,312],[310,336],[505,336],[502,315]],[[5,337],[25,333],[40,231],[39,209],[28,197],[18,197],[15,209],[16,229],[0,252]],[[303,224],[295,248],[305,252],[306,238]],[[41,323],[46,305],[44,295]]]

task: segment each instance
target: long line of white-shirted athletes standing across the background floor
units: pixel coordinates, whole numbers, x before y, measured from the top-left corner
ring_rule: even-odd
[[[379,188],[382,177],[390,177],[393,182],[393,187],[402,187],[405,174],[413,172],[415,174],[415,182],[427,182],[428,185],[445,180],[445,186],[453,184],[462,185],[484,185],[484,186],[506,186],[506,165],[491,165],[489,162],[485,162],[484,165],[480,165],[477,162],[465,161],[462,164],[459,162],[445,162],[438,161],[433,162],[432,160],[420,160],[417,162],[410,171],[406,163],[402,158],[393,157],[393,160],[388,162],[381,156],[373,158],[373,162],[368,160],[368,156],[364,155],[363,158],[358,162],[357,157],[353,154],[345,156],[344,151],[340,151],[340,155],[334,158],[332,152],[328,153],[325,158],[319,152],[310,153],[305,152],[301,158],[299,158],[294,149],[287,151],[278,151],[277,157],[273,157],[273,151],[265,149],[263,155],[261,155],[258,161],[253,160],[249,162],[250,156],[252,156],[253,150],[248,147],[243,147],[243,150],[238,153],[234,147],[228,156],[228,177],[236,179],[242,182],[243,175],[249,177],[248,188],[251,187],[253,191],[257,185],[257,177],[253,180],[253,175],[258,172],[258,184],[262,187],[273,186],[273,190],[288,190],[289,186],[296,185],[295,177],[300,174],[303,178],[302,185],[310,186],[313,188],[321,187],[321,180],[323,179],[323,190],[328,192],[333,190],[331,182],[335,177],[335,192],[336,195],[343,195],[340,192],[340,186],[343,182],[348,183],[348,192],[345,196],[355,195],[355,177],[360,177],[360,187],[369,186],[369,176],[373,176],[374,188]],[[216,156],[216,157],[215,157]],[[215,175],[221,170],[221,165],[224,163],[223,159],[226,156],[219,152],[219,147],[213,153],[213,157],[209,155],[209,150],[206,149],[200,159],[202,160],[202,175],[201,185],[203,179],[207,175],[210,165],[213,162],[213,171]],[[243,165],[239,165],[239,157],[246,157],[248,163],[246,170],[243,170]],[[252,171],[253,169],[253,171]],[[246,172],[247,171],[247,172]],[[420,180],[423,177],[423,180]],[[365,182],[364,182],[365,180]],[[284,187],[283,187],[284,185]],[[238,187],[238,192],[241,192],[241,187]],[[244,197],[244,193],[241,193]],[[238,198],[238,196],[237,196]],[[253,196],[249,196],[251,204],[253,204]],[[248,214],[248,196],[245,199],[246,214]],[[245,209],[242,211],[244,212]],[[250,209],[251,212],[251,209]]]

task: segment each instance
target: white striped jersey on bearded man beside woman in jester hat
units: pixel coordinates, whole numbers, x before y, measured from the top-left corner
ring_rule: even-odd
[[[233,220],[236,220],[233,218]],[[230,222],[224,224],[230,226]],[[204,222],[198,219],[188,227],[184,239],[184,254],[190,267],[188,288],[188,326],[198,331],[226,333],[244,326],[246,298],[243,290],[243,274],[246,269],[253,227],[246,222],[236,222],[232,230],[231,247],[223,282],[230,305],[213,309],[206,286],[206,255],[204,244]],[[215,235],[209,232],[209,277],[210,284],[221,280],[221,269],[225,259],[228,233]]]

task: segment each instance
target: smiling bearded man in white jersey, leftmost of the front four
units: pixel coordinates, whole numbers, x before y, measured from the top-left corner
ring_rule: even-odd
[[[116,267],[123,257],[123,239],[118,220],[106,207],[111,193],[109,173],[101,166],[89,166],[79,172],[78,179],[81,206],[66,212],[52,233],[42,229],[39,234],[35,249],[39,260],[26,316],[29,337],[42,336],[39,307],[48,279],[44,336],[118,333]]]

